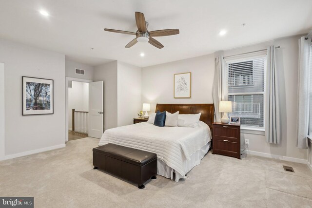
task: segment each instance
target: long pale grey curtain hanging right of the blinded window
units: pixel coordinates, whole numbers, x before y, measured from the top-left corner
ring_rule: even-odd
[[[269,46],[267,53],[267,73],[265,84],[265,137],[267,142],[279,144],[281,139],[281,128],[275,47]]]

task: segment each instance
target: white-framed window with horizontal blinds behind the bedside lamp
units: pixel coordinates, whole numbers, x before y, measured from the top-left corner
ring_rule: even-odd
[[[242,125],[264,127],[266,55],[226,61],[228,100]]]

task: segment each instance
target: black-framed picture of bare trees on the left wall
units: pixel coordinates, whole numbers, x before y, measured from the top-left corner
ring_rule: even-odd
[[[53,114],[53,79],[22,76],[22,115]]]

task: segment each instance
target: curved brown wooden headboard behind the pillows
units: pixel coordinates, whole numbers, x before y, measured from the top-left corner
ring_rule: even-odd
[[[201,113],[200,119],[205,122],[210,129],[213,128],[214,122],[214,104],[157,104],[156,111],[157,112],[168,111],[169,113],[179,114],[196,114]]]

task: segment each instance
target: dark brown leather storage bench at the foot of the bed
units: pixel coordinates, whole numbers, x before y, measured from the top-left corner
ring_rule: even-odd
[[[157,155],[116,144],[93,148],[94,169],[101,169],[129,180],[144,189],[148,179],[156,179]]]

